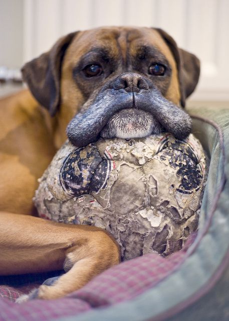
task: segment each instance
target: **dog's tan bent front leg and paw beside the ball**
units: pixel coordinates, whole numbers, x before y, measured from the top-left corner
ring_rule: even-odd
[[[11,213],[1,213],[0,226],[0,275],[69,270],[53,285],[41,285],[38,298],[66,295],[120,261],[115,240],[96,227]]]

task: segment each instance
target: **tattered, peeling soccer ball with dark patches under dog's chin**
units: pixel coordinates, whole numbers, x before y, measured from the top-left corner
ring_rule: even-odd
[[[40,179],[40,217],[101,227],[116,238],[122,258],[179,250],[198,225],[205,157],[191,134],[66,142]]]

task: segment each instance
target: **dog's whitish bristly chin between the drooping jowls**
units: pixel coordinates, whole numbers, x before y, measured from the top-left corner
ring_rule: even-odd
[[[141,138],[150,134],[158,134],[164,128],[155,117],[147,111],[136,108],[123,109],[116,112],[100,132],[103,138]]]

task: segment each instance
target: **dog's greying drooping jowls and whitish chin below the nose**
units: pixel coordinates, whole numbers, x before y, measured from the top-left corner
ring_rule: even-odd
[[[67,136],[77,147],[104,138],[137,138],[168,131],[184,139],[191,131],[191,118],[168,101],[159,90],[138,93],[105,88],[89,99],[68,124]]]

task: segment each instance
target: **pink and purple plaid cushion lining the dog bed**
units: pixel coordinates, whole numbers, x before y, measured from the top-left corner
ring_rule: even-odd
[[[195,234],[189,237],[182,250],[164,258],[156,253],[123,262],[101,273],[82,289],[57,300],[13,302],[27,293],[34,284],[14,288],[0,286],[1,321],[45,321],[86,312],[96,307],[129,300],[153,287],[170,275],[185,259],[185,253]]]

